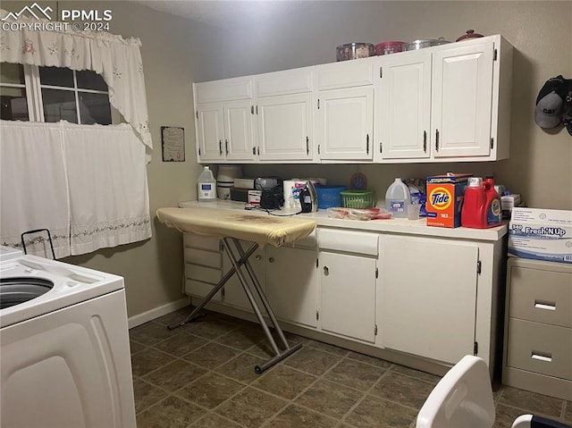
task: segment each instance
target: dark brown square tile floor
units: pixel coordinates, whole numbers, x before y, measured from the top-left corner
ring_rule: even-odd
[[[130,331],[139,428],[408,428],[440,379],[290,334],[303,347],[257,375],[272,354],[257,324],[211,312],[166,329],[187,314]],[[526,413],[572,424],[570,401],[504,386],[494,398],[495,428]]]

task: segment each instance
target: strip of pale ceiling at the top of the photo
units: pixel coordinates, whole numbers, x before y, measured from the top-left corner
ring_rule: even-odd
[[[307,8],[301,0],[133,0],[151,9],[223,27],[240,22],[271,20]]]

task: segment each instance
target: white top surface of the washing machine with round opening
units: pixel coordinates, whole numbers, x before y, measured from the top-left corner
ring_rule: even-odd
[[[64,307],[123,290],[123,278],[85,267],[66,264],[38,256],[16,256],[0,264],[0,283],[11,284],[13,290],[25,292],[25,284],[54,284],[34,298],[0,309],[0,328],[49,314]],[[0,287],[0,293],[3,287]],[[6,293],[10,289],[6,288]],[[28,288],[28,290],[30,290]],[[6,294],[8,296],[8,294]],[[3,299],[0,294],[0,299]]]

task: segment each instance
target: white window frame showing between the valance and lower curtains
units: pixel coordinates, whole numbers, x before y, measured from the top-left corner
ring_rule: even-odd
[[[99,89],[86,89],[86,88],[78,88],[78,78],[77,78],[77,71],[72,70],[67,67],[56,67],[56,68],[64,68],[67,70],[72,71],[73,75],[73,87],[60,87],[55,85],[44,85],[40,81],[39,77],[39,65],[32,65],[32,64],[20,64],[23,67],[24,71],[24,83],[4,83],[0,81],[0,86],[5,88],[23,88],[26,91],[26,103],[28,104],[28,121],[29,122],[46,122],[45,112],[44,112],[44,103],[42,97],[42,89],[55,89],[55,90],[67,90],[71,91],[74,94],[75,100],[75,109],[76,109],[76,116],[78,118],[78,124],[85,124],[81,123],[81,114],[80,114],[80,93],[89,93],[89,94],[105,94],[107,96],[107,100],[109,102],[109,108],[111,111],[111,123],[100,125],[113,125],[117,123],[123,122],[121,119],[121,114],[114,109],[114,106],[111,104],[109,100],[109,88],[107,90],[99,90]],[[95,71],[94,71],[95,72]],[[88,125],[91,123],[88,123]]]

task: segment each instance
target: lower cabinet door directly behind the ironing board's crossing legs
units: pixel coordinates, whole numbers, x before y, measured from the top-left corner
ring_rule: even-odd
[[[245,250],[247,250],[248,247],[250,247],[250,245],[252,245],[251,242],[242,242],[242,241],[240,241],[240,244],[242,245],[242,248],[244,248]],[[234,247],[232,247],[232,249],[234,250]],[[257,275],[257,279],[260,282],[260,286],[262,287],[262,290],[264,291],[265,290],[265,249],[264,248],[258,248],[257,251],[255,251],[255,253],[252,256],[248,257],[248,262],[252,266],[252,269],[254,270],[255,274]],[[231,266],[232,266],[231,261],[230,261],[229,257],[226,255],[226,252],[224,252],[223,253],[223,273],[227,273],[229,271],[229,269],[231,269]],[[248,272],[246,270],[246,267],[242,267],[241,271],[247,277],[248,284],[250,284],[250,277],[248,276]],[[251,289],[251,291],[254,292],[255,298],[257,298],[256,291],[254,291],[252,289]],[[261,306],[259,298],[257,298],[257,302],[258,302],[259,307],[261,307],[261,308],[264,307],[264,306]],[[248,312],[253,312],[252,306],[250,305],[250,302],[248,301],[247,295],[246,295],[244,289],[242,288],[242,284],[240,284],[239,277],[237,276],[236,273],[234,273],[232,275],[231,279],[229,279],[229,281],[227,281],[226,284],[224,285],[224,303],[227,305],[240,307],[240,309],[248,310]]]

